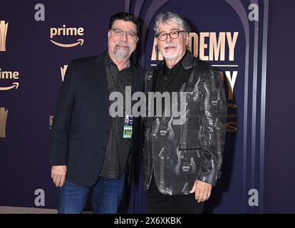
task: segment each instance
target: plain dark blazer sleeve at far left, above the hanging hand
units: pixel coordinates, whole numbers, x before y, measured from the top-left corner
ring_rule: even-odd
[[[50,165],[67,165],[68,135],[76,95],[76,65],[72,61],[58,93],[51,128]]]

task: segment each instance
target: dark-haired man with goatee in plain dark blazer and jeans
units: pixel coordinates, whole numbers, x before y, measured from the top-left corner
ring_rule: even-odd
[[[110,116],[115,101],[109,95],[119,92],[125,101],[125,88],[132,93],[143,90],[143,69],[130,61],[138,29],[133,14],[113,15],[108,51],[68,66],[51,130],[51,178],[58,187],[58,213],[83,212],[91,189],[94,213],[117,213],[138,147],[140,120],[125,109],[123,116]]]

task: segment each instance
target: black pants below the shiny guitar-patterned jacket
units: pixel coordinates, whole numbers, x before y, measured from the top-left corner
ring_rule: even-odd
[[[195,192],[189,195],[163,195],[157,190],[154,175],[146,199],[149,214],[201,214],[204,208],[204,203],[198,203],[195,199]]]

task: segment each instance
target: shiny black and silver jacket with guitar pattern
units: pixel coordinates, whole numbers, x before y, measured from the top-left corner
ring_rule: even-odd
[[[145,95],[152,92],[161,64],[145,76]],[[187,52],[182,60],[184,81],[177,92],[186,92],[185,112],[178,118],[147,117],[143,171],[145,190],[152,172],[158,190],[165,195],[187,195],[195,180],[215,185],[220,175],[227,122],[227,101],[218,71]],[[171,111],[172,114],[172,111]],[[177,121],[176,121],[177,120]]]

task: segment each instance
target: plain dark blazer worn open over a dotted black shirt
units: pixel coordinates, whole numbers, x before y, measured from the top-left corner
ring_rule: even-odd
[[[144,71],[133,68],[134,91],[143,91]],[[133,146],[138,150],[139,118],[133,123]],[[71,61],[58,94],[51,129],[50,165],[67,165],[66,180],[91,187],[98,180],[110,132],[108,81],[103,54]]]

